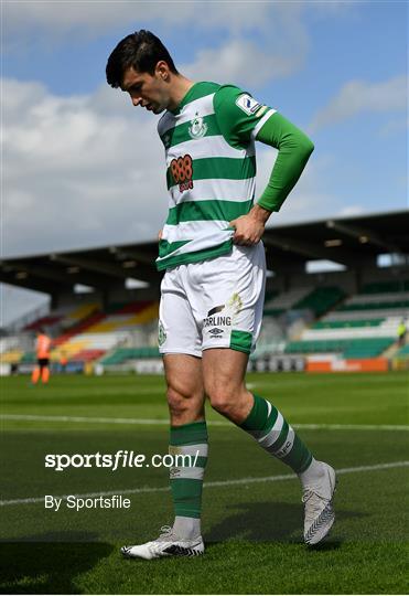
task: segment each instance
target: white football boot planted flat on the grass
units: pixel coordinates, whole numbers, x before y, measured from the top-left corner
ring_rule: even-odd
[[[162,556],[198,556],[204,553],[204,543],[202,536],[181,540],[170,525],[163,525],[157,540],[136,546],[122,546],[121,553],[126,557],[148,560]]]

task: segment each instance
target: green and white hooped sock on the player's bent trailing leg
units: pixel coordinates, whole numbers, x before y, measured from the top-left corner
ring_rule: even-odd
[[[258,395],[254,395],[254,398],[250,414],[239,426],[295,473],[304,472],[313,461],[308,447],[270,402]]]

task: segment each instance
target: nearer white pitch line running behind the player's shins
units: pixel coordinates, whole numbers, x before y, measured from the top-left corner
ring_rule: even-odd
[[[391,468],[409,467],[409,461],[391,461],[389,464],[376,464],[375,466],[356,466],[355,468],[340,468],[336,470],[337,475],[354,473],[359,471],[377,471],[387,470]],[[286,473],[281,476],[263,476],[259,478],[237,478],[236,480],[215,480],[213,482],[204,482],[204,488],[214,487],[230,487],[237,485],[254,485],[256,482],[279,482],[281,480],[295,480],[294,473]],[[93,497],[110,497],[112,494],[140,494],[143,492],[166,492],[170,487],[142,487],[138,489],[126,490],[108,490],[104,492],[87,492],[85,494],[74,494],[78,499],[89,499]],[[55,499],[67,499],[71,494],[60,494],[54,497]],[[31,497],[28,499],[12,499],[10,501],[0,501],[0,507],[14,505],[14,504],[32,504],[44,502],[44,497]]]

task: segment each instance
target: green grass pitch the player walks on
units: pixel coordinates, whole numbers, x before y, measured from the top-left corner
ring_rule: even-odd
[[[315,457],[340,470],[331,536],[305,547],[297,478],[282,478],[291,470],[207,408],[206,553],[148,562],[122,560],[119,547],[172,522],[168,470],[56,472],[44,456],[166,454],[163,379],[67,375],[35,387],[25,376],[0,381],[1,593],[407,593],[407,373],[249,375],[252,391],[299,425]],[[131,508],[44,508],[44,494],[100,492],[123,494]]]

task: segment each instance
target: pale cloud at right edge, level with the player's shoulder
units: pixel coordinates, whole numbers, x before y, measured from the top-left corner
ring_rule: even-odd
[[[396,76],[381,83],[349,81],[327,106],[316,114],[311,129],[338,123],[360,111],[392,111],[407,108],[407,77]]]

